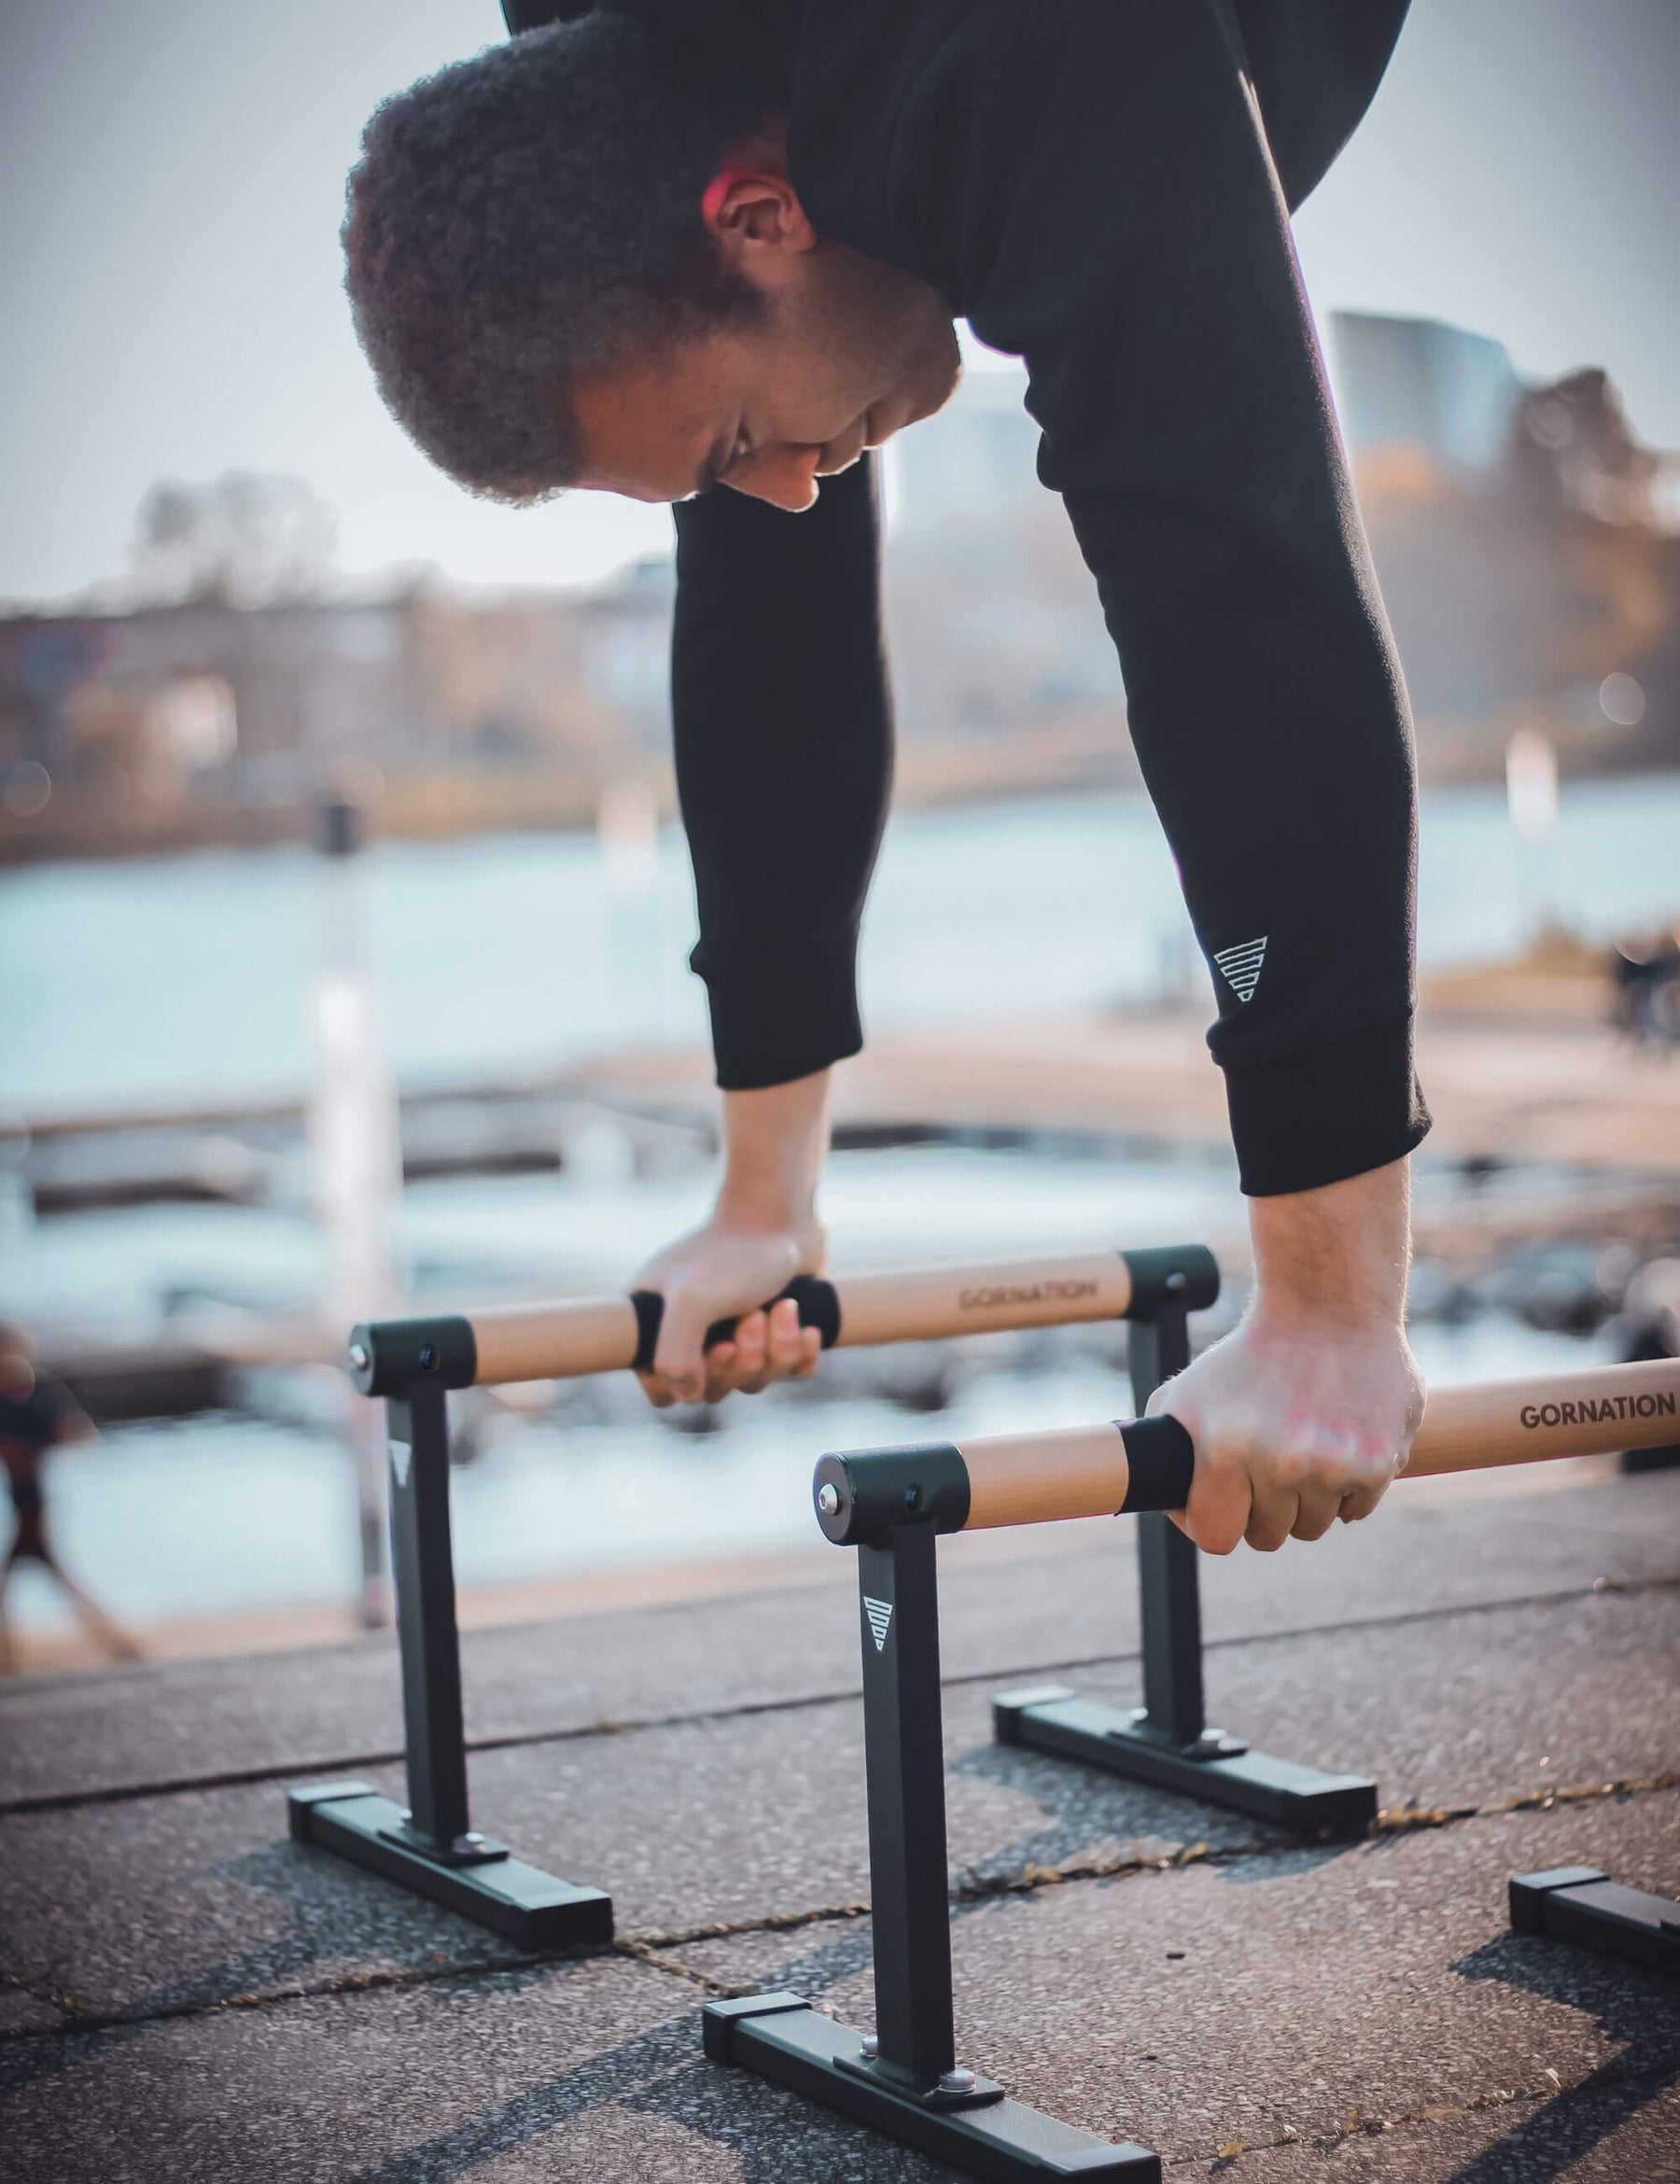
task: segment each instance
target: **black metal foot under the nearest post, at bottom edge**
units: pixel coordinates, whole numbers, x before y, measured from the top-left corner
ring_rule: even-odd
[[[708,2003],[701,2011],[706,2053],[821,2101],[887,2138],[950,2162],[992,2184],[1044,2184],[1044,2177],[1160,2184],[1160,2156],[1075,2132],[1020,2101],[983,2108],[937,2108],[913,2092],[865,2077],[856,2066],[863,2042],[845,2025],[811,2009],[802,1994],[752,1994]]]

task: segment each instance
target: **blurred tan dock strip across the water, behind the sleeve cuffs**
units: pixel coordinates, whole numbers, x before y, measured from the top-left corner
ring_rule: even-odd
[[[1418,1066],[1433,1155],[1553,1162],[1680,1177],[1680,1051],[1634,1048],[1586,1013],[1577,981],[1551,996],[1453,989],[1427,1009]],[[1523,1013],[1523,1007],[1542,1013]],[[564,1164],[594,1109],[636,1138],[712,1142],[712,1061],[642,1046],[575,1068],[415,1090],[402,1101],[404,1175],[518,1173]],[[37,1212],[94,1203],[242,1199],[262,1192],[262,1138],[304,1120],[297,1099],[26,1116],[11,1127]],[[1057,1018],[876,1033],[835,1072],[837,1142],[915,1131],[1073,1131],[1092,1140],[1228,1142],[1223,1081],[1202,1013]],[[256,1144],[253,1144],[256,1133]],[[114,1149],[127,1140],[127,1158]]]

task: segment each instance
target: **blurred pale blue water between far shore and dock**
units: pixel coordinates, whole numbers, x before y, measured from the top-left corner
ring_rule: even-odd
[[[1566,784],[1547,889],[1588,935],[1680,911],[1680,775]],[[0,878],[0,1107],[297,1092],[319,954],[304,850],[70,863]],[[620,1040],[701,1040],[686,852],[640,895],[585,834],[382,843],[374,963],[406,1083],[566,1061]],[[1424,797],[1424,963],[1521,937],[1494,788]],[[1182,959],[1171,856],[1138,793],[900,812],[863,946],[872,1024],[979,1022],[1151,996]]]

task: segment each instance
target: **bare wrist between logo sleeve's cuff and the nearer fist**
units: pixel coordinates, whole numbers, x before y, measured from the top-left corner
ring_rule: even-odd
[[[1409,1162],[1250,1199],[1254,1317],[1324,1330],[1398,1328],[1411,1262]]]

